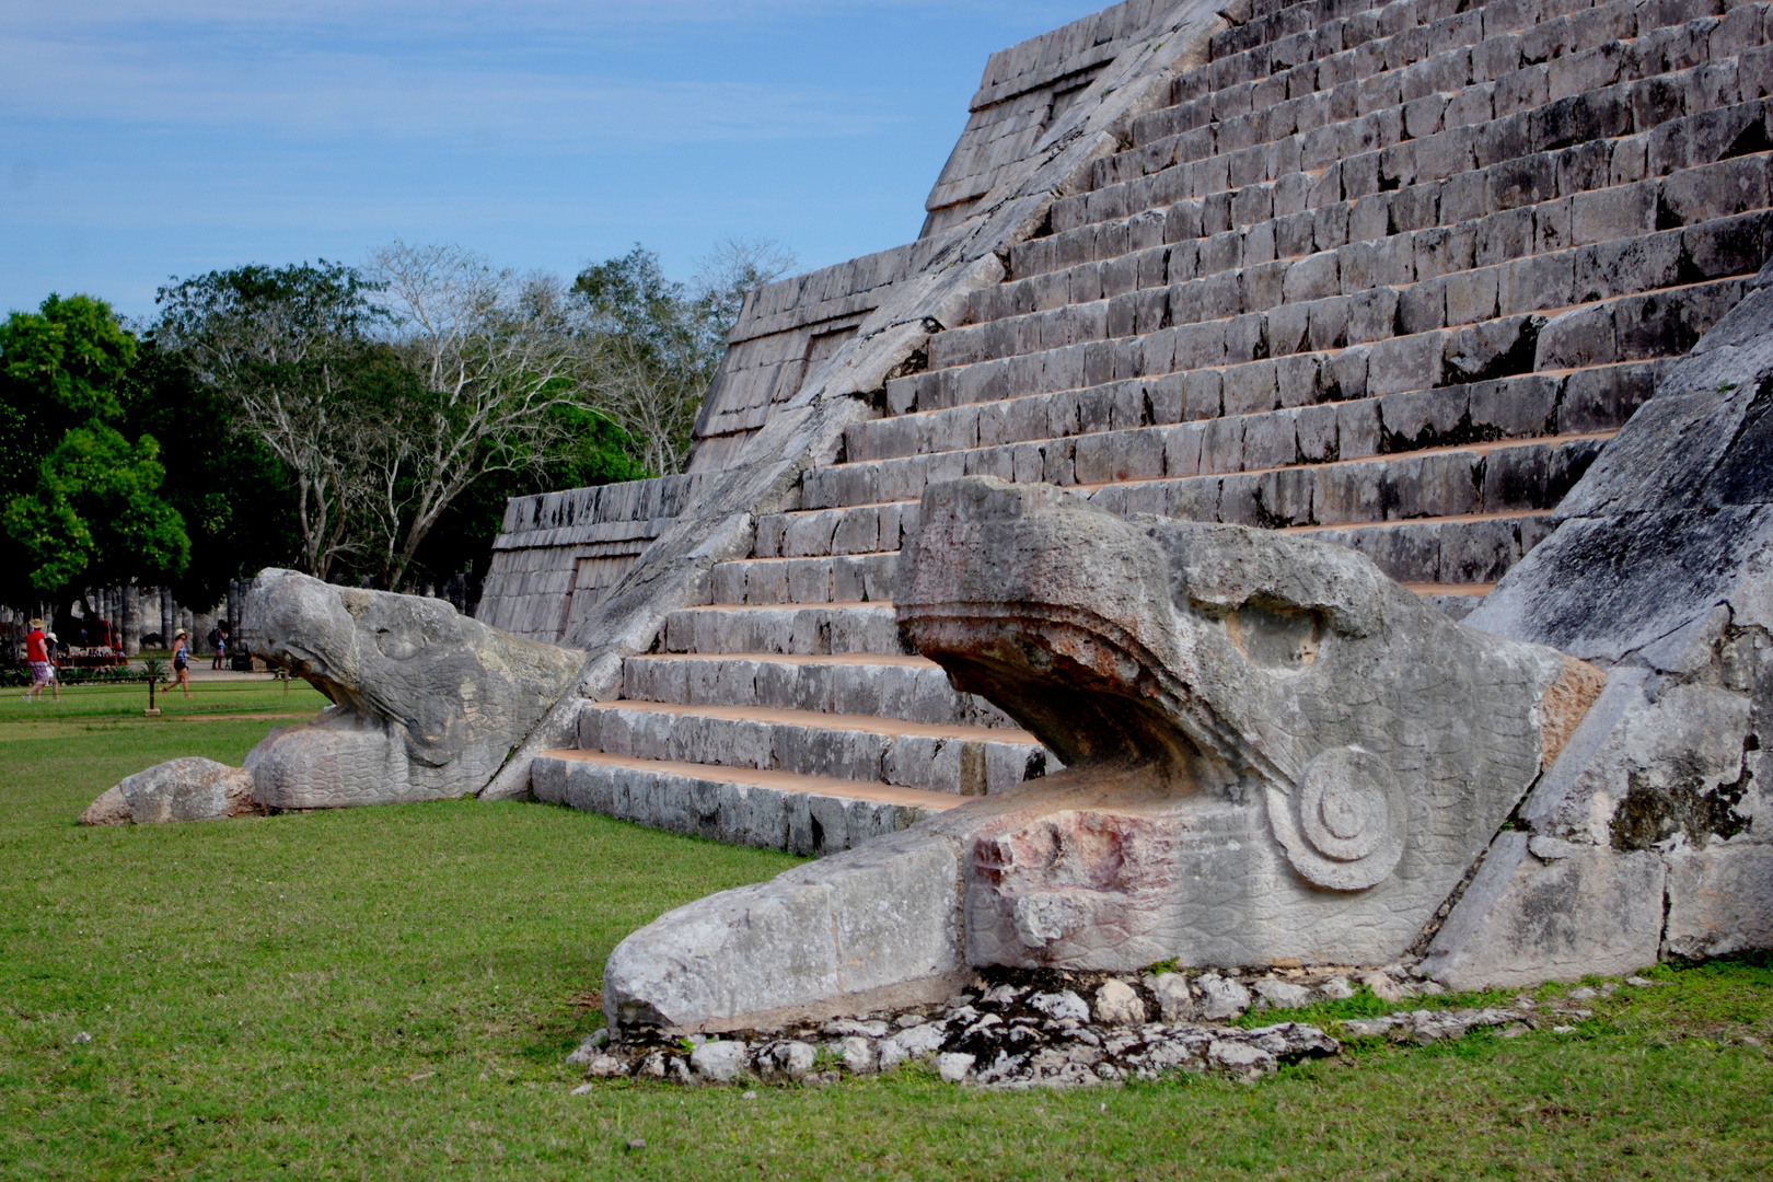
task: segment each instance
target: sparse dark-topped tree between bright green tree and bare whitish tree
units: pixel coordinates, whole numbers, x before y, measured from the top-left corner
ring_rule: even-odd
[[[372,284],[328,262],[245,266],[161,287],[156,340],[232,408],[291,477],[298,565],[328,578],[360,549],[351,517],[372,493],[365,450],[387,447],[399,374],[371,330]]]

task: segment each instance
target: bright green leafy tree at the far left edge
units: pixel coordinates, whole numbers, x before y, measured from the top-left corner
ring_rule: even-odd
[[[163,583],[184,569],[190,539],[160,494],[160,445],[117,429],[137,353],[90,296],[50,296],[0,326],[0,530],[20,556],[0,574],[9,603],[66,603],[82,585]]]

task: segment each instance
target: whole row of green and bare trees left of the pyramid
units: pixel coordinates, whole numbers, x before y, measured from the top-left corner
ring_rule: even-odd
[[[562,284],[394,243],[174,278],[135,331],[50,296],[0,324],[0,601],[484,569],[511,496],[681,471],[745,292],[789,264],[725,243],[683,284],[635,246]]]

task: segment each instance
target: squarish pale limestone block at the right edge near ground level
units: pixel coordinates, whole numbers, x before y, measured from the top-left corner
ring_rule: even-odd
[[[1745,948],[1773,948],[1773,845],[1736,840],[1675,849],[1663,952],[1722,957]]]

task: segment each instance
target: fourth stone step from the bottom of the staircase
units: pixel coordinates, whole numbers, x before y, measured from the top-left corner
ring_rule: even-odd
[[[913,656],[890,601],[679,608],[665,617],[663,649],[729,656]]]

